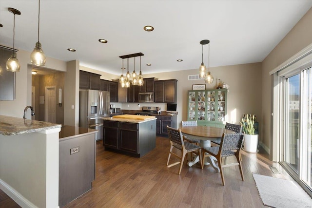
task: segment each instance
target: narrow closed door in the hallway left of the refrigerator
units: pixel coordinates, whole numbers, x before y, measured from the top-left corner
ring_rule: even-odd
[[[45,87],[44,121],[55,123],[55,86]]]

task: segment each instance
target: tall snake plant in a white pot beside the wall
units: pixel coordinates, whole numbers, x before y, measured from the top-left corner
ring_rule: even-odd
[[[240,122],[244,133],[244,151],[252,153],[257,152],[258,147],[258,134],[254,133],[254,119],[254,115],[247,114]]]

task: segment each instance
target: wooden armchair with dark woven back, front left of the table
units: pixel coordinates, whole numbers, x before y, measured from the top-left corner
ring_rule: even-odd
[[[184,136],[182,135],[181,130],[179,130],[179,129],[174,129],[174,128],[171,128],[171,127],[167,126],[167,130],[168,130],[168,136],[169,136],[169,140],[170,140],[170,151],[169,151],[168,160],[167,160],[167,167],[168,168],[170,168],[172,166],[175,166],[177,164],[180,164],[180,168],[179,168],[179,172],[178,172],[178,174],[180,174],[181,170],[182,170],[182,166],[183,166],[185,155],[188,152],[195,152],[196,154],[198,154],[199,155],[200,164],[202,163],[202,160],[201,160],[201,147],[200,146],[192,144],[192,143],[190,143],[188,141],[184,141],[184,138],[183,138]],[[177,155],[176,153],[174,153],[173,152],[174,148],[176,148],[177,150],[181,151],[182,155]],[[168,165],[171,154],[173,154],[176,157],[180,158],[181,161]]]

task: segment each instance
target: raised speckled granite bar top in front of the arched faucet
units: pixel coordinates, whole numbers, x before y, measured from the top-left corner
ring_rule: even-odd
[[[60,128],[61,124],[0,115],[0,134],[17,135]]]

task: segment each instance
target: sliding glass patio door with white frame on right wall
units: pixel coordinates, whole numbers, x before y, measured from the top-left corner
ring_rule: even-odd
[[[282,78],[282,164],[312,190],[312,68]]]

